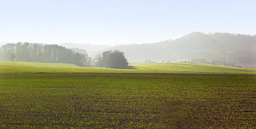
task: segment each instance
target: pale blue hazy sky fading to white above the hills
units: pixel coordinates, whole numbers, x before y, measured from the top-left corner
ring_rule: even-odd
[[[194,31],[256,34],[256,1],[0,0],[0,42],[142,44]]]

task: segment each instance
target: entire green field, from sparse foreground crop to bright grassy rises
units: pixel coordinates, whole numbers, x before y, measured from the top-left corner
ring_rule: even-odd
[[[255,69],[134,67],[0,62],[0,128],[256,127]]]

